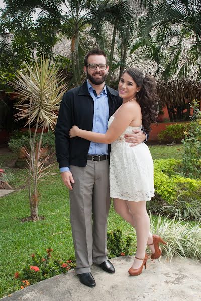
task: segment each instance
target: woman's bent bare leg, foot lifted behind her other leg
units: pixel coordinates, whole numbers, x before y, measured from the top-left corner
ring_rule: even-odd
[[[121,200],[121,199],[113,199],[114,209],[117,212],[117,214],[119,214],[125,221],[127,221],[131,226],[133,226],[133,228],[136,229],[135,219],[129,210],[127,202],[128,201]],[[147,244],[152,244],[152,243],[153,243],[152,234],[149,232]],[[149,246],[149,248],[151,249],[152,253],[155,252],[154,245]]]

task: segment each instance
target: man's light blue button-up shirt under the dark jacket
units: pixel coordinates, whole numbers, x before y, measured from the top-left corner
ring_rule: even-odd
[[[93,132],[105,134],[108,129],[109,106],[106,85],[102,92],[97,96],[96,91],[93,89],[87,80],[88,92],[93,98],[94,111],[93,111]],[[90,142],[89,155],[108,155],[108,144]],[[61,167],[60,172],[69,171],[69,167]]]

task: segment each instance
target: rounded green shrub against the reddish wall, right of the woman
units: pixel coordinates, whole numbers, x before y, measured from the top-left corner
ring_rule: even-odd
[[[184,139],[186,131],[190,126],[190,123],[177,123],[172,125],[166,125],[164,130],[158,134],[159,142],[181,142]]]

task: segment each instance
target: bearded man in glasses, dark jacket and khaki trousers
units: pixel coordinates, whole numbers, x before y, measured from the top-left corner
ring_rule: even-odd
[[[73,125],[105,133],[108,119],[122,104],[118,92],[105,85],[108,64],[100,49],[90,51],[84,59],[88,80],[63,96],[56,125],[56,153],[64,184],[70,189],[70,221],[75,248],[75,271],[80,281],[95,286],[90,266],[104,271],[115,269],[107,258],[107,216],[109,197],[110,146],[79,137],[69,139]],[[128,142],[137,145],[146,134],[136,131]]]

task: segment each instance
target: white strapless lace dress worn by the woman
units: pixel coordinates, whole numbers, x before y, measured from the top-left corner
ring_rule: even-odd
[[[108,127],[113,122],[111,116]],[[153,160],[145,143],[130,147],[124,134],[141,127],[128,126],[111,144],[110,196],[127,201],[150,201],[154,196]]]

